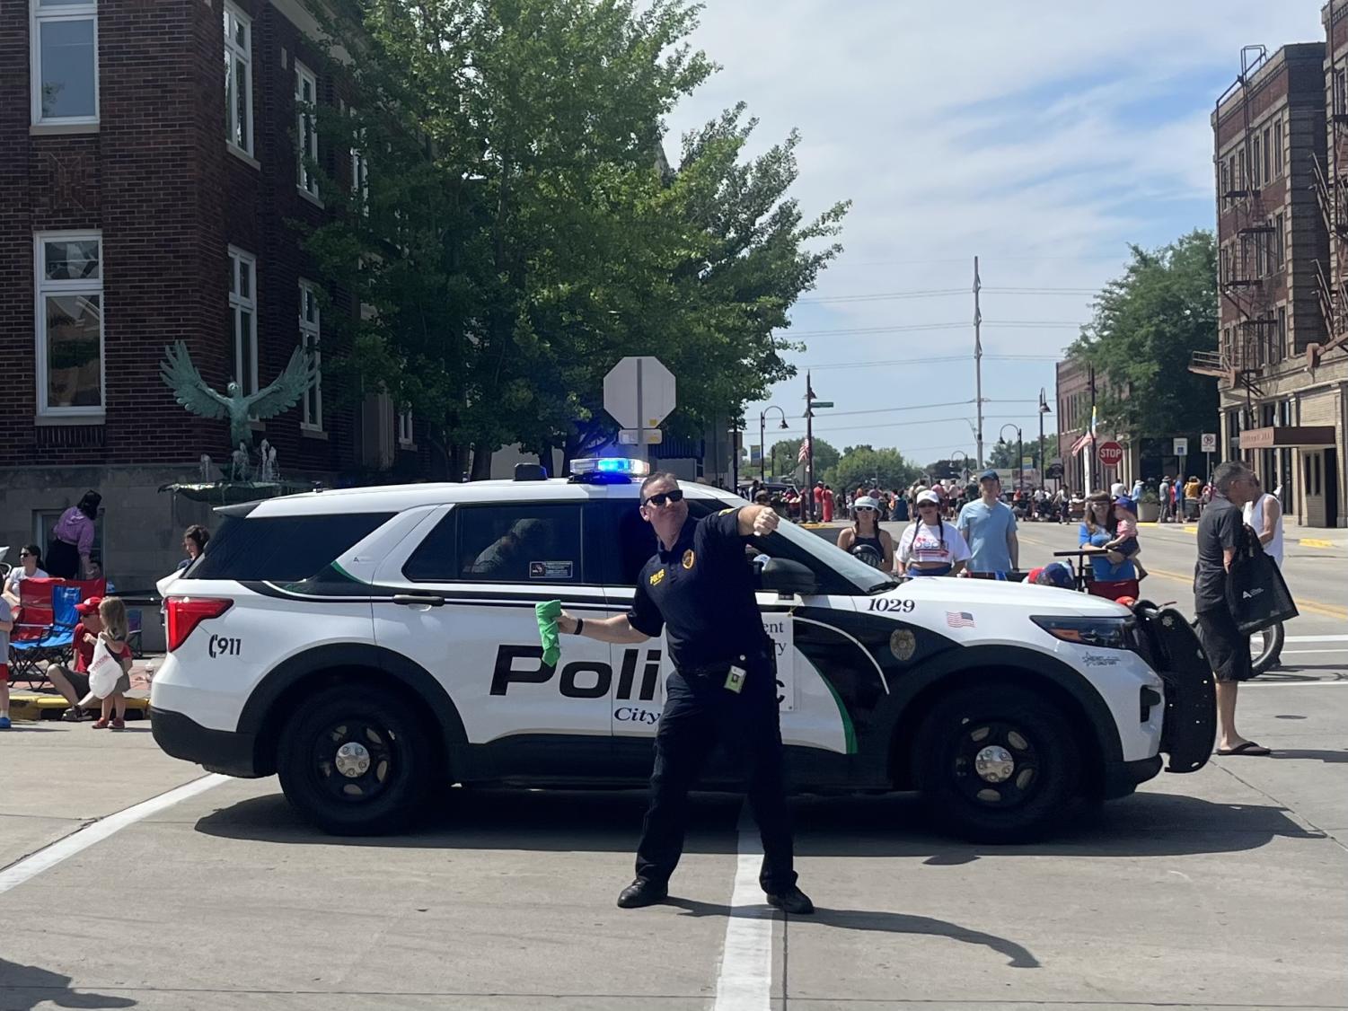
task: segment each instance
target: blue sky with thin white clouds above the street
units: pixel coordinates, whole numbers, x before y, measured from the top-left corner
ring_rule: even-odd
[[[1322,39],[1314,0],[709,0],[692,43],[721,70],[669,119],[671,158],[743,100],[749,154],[801,132],[807,218],[852,201],[785,332],[799,375],[745,407],[744,443],[768,404],[791,426],[770,411],[770,446],[803,435],[810,367],[837,404],[818,438],[973,458],[977,255],[984,442],[1020,425],[1030,453],[1039,390],[1053,407],[1054,363],[1128,245],[1213,226],[1209,116],[1240,47]]]

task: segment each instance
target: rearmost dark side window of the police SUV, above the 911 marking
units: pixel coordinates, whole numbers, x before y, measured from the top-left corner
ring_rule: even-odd
[[[226,516],[182,578],[298,582],[321,573],[392,512],[332,516]]]

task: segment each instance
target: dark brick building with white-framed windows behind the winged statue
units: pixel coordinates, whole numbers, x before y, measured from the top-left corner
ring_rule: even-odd
[[[319,305],[290,224],[325,213],[298,148],[360,171],[302,113],[337,101],[314,28],[302,0],[0,4],[0,545],[44,546],[94,488],[106,572],[151,585],[209,518],[158,488],[231,449],[225,422],[174,403],[164,346],[251,392],[297,344],[318,349],[325,313],[353,310],[338,291]],[[353,411],[319,386],[253,427],[295,480],[419,462],[383,398]]]

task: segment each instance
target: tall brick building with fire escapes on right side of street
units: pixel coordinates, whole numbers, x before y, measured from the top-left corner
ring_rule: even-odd
[[[1219,350],[1196,352],[1190,364],[1217,379],[1223,456],[1251,462],[1309,526],[1348,523],[1348,356],[1341,322],[1330,326],[1344,315],[1335,264],[1348,232],[1348,162],[1337,151],[1348,109],[1343,84],[1335,90],[1348,49],[1340,8],[1324,11],[1339,57],[1326,59],[1322,42],[1273,55],[1246,47],[1240,75],[1217,100]]]

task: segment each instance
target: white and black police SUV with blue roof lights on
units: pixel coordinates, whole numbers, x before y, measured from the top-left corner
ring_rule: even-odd
[[[221,508],[205,554],[160,584],[155,740],[208,770],[279,772],[333,833],[394,830],[437,782],[644,783],[663,642],[563,636],[550,667],[534,616],[550,599],[582,617],[628,608],[655,549],[630,464]],[[693,516],[743,504],[683,488]],[[790,523],[749,553],[798,791],[915,789],[960,833],[1010,841],[1131,793],[1162,754],[1177,772],[1206,762],[1211,674],[1174,612],[900,584]]]

